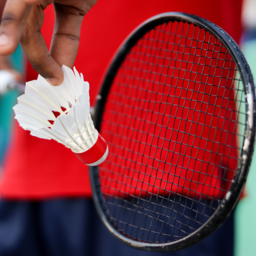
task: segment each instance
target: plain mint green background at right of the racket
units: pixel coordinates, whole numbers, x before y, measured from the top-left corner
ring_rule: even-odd
[[[256,79],[256,40],[247,41],[242,49]],[[235,256],[256,256],[256,150],[247,177],[246,194],[235,214]]]

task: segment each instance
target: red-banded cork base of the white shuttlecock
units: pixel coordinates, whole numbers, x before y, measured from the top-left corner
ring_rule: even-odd
[[[75,153],[77,157],[86,165],[100,165],[108,155],[107,142],[100,133],[95,144],[83,153]]]

